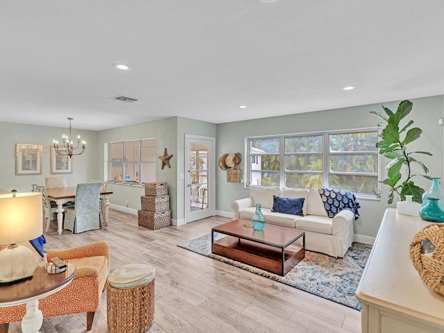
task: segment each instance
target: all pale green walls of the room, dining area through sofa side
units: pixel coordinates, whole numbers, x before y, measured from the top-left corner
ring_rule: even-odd
[[[438,119],[444,117],[443,96],[432,96],[422,99],[411,99],[413,111],[411,117],[415,126],[422,128],[423,134],[411,148],[430,151],[432,157],[421,158],[430,169],[430,176],[443,178],[444,176],[444,126],[438,125]],[[382,103],[395,110],[400,101]],[[214,124],[196,121],[182,117],[171,117],[158,121],[139,123],[132,126],[112,128],[100,132],[76,130],[73,134],[80,135],[87,142],[87,149],[83,155],[74,156],[72,160],[73,173],[64,175],[68,185],[79,182],[88,182],[91,179],[103,179],[105,170],[104,147],[107,142],[127,141],[131,139],[156,138],[156,154],[163,155],[164,148],[173,154],[171,169],[160,169],[160,160],[157,161],[157,180],[168,182],[171,200],[171,217],[173,222],[182,221],[185,217],[184,194],[185,179],[180,180],[179,174],[185,173],[185,135],[202,135],[216,137],[216,157],[224,153],[241,152],[245,157],[245,138],[248,136],[276,135],[287,133],[307,133],[320,130],[344,130],[352,128],[369,128],[377,125],[377,118],[369,114],[370,111],[382,111],[381,103],[362,105],[354,108],[341,108],[291,114],[281,117],[269,117],[250,121],[236,121],[232,123]],[[272,111],[271,111],[272,112]],[[0,188],[30,191],[31,184],[44,184],[44,178],[50,174],[49,146],[53,139],[61,138],[67,133],[67,128],[49,126],[32,126],[18,123],[0,122]],[[15,144],[42,144],[42,175],[15,176]],[[244,160],[245,162],[245,160]],[[382,169],[387,161],[382,161]],[[232,201],[245,198],[249,190],[244,183],[226,181],[226,173],[216,168],[216,212],[231,216]],[[429,180],[417,178],[416,182],[425,189],[431,185]],[[140,208],[140,196],[144,195],[144,188],[135,185],[110,184],[114,191],[110,198],[111,205],[126,207],[128,211],[136,212]],[[355,233],[368,237],[375,237],[379,224],[388,207],[386,192],[381,200],[361,199],[361,218],[355,222]],[[395,207],[393,204],[392,207]]]

